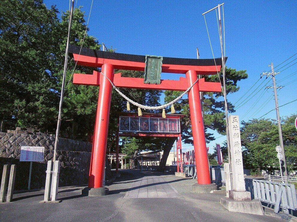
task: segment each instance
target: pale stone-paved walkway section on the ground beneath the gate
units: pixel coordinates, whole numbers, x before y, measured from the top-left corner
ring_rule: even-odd
[[[124,198],[177,198],[180,194],[160,176],[144,176],[135,181]]]

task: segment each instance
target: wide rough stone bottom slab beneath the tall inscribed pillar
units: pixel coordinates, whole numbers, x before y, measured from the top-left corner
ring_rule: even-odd
[[[260,201],[234,201],[228,197],[221,198],[220,203],[231,212],[240,212],[256,215],[264,215]]]

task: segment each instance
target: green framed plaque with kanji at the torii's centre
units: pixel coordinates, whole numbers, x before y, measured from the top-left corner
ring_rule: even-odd
[[[160,84],[162,72],[162,56],[146,55],[144,83]]]

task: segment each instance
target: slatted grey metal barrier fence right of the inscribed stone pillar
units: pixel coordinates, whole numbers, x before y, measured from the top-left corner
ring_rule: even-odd
[[[246,191],[251,192],[251,198],[275,205],[275,213],[279,212],[280,207],[284,209],[283,211],[286,214],[289,214],[289,209],[297,209],[296,190],[294,184],[248,178],[245,178],[245,182]]]

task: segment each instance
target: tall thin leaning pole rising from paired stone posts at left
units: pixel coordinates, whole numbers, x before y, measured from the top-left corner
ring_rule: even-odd
[[[64,96],[64,88],[65,88],[65,79],[66,79],[66,70],[67,70],[67,61],[68,61],[68,47],[69,47],[69,38],[70,38],[70,30],[71,30],[71,23],[72,23],[73,6],[74,6],[74,0],[72,0],[72,6],[71,6],[71,12],[70,12],[70,18],[69,18],[69,26],[68,26],[67,44],[66,44],[66,50],[65,50],[65,63],[64,63],[61,97],[60,97],[60,104],[59,104],[59,115],[58,115],[56,138],[55,138],[55,144],[54,144],[54,157],[53,157],[54,164],[55,164],[55,161],[57,160],[57,148],[58,148],[58,144],[59,144],[58,138],[60,135],[61,112],[62,112],[62,104],[63,104],[63,96]],[[53,169],[54,169],[54,166],[53,166]]]

